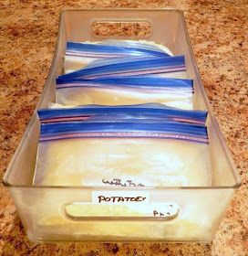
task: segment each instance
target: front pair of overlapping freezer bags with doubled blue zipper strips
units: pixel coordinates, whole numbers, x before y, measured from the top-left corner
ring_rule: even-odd
[[[211,183],[206,112],[145,104],[45,109],[38,114],[35,185]]]

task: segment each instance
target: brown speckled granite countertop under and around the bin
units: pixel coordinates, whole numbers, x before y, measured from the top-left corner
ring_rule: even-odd
[[[1,255],[248,255],[248,2],[47,0],[0,3],[0,174],[36,107],[62,7],[176,7],[185,12],[203,84],[243,178],[212,243],[34,244],[0,187]]]

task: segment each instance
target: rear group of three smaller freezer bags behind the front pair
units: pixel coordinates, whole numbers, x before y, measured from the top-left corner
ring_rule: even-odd
[[[122,105],[158,102],[192,109],[193,84],[183,56],[148,41],[67,42],[57,103]]]

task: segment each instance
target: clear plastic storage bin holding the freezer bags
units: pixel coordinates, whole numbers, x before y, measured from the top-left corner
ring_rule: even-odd
[[[92,25],[148,22],[151,32],[145,39],[170,48],[186,58],[187,73],[194,80],[195,109],[208,110],[208,132],[212,158],[210,187],[37,187],[32,185],[36,165],[39,123],[36,112],[4,176],[15,207],[32,241],[52,240],[212,240],[225,209],[239,187],[239,176],[212,115],[202,80],[193,57],[183,14],[172,9],[65,10],[60,16],[56,54],[45,89],[37,105],[45,108],[55,100],[55,79],[63,72],[66,41],[96,41]],[[115,37],[137,39],[140,37]],[[201,166],[199,166],[201,169]],[[146,214],[124,213],[112,205],[114,215],[99,210],[99,196],[145,197],[140,204]],[[88,205],[95,204],[88,210]]]

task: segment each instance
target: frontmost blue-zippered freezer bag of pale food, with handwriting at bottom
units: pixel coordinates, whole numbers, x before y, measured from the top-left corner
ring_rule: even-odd
[[[209,186],[207,130],[180,122],[43,123],[34,184]]]

